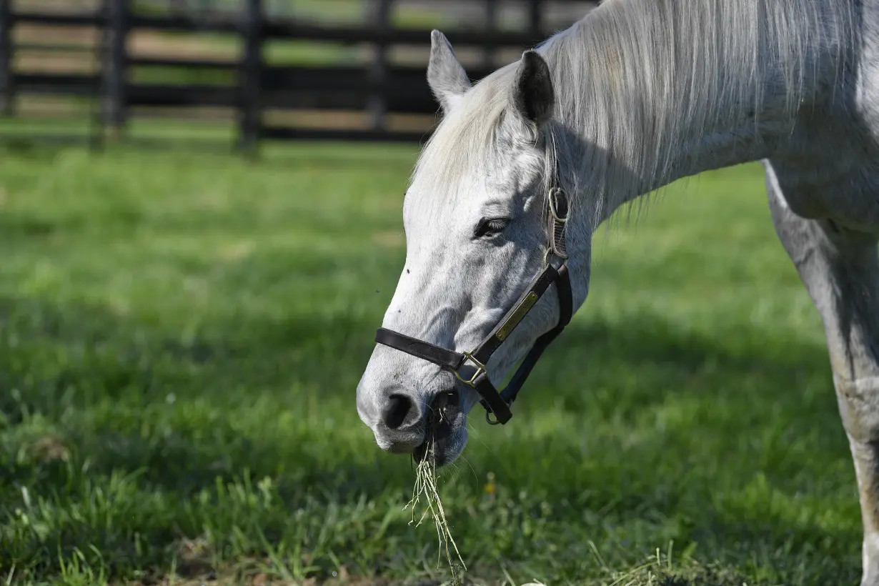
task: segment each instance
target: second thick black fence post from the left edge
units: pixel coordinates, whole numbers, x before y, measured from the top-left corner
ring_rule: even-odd
[[[106,0],[106,35],[109,37],[105,55],[105,123],[121,134],[127,120],[126,75],[129,0]]]

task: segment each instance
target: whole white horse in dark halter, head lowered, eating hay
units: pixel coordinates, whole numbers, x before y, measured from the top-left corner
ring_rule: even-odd
[[[434,31],[427,78],[444,117],[411,177],[405,265],[357,388],[378,445],[423,458],[432,438],[441,466],[480,399],[505,423],[518,387],[498,402],[492,384],[564,325],[562,277],[583,304],[599,224],[679,177],[761,160],[823,319],[861,583],[879,585],[879,0],[606,0],[476,85]]]

